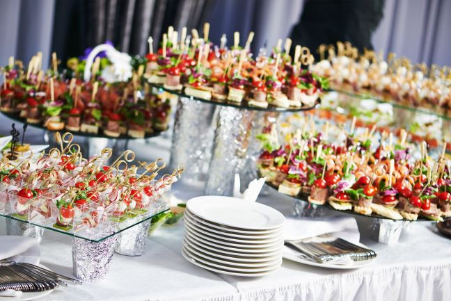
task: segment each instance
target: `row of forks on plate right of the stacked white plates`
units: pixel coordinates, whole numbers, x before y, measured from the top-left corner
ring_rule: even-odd
[[[301,240],[287,240],[284,243],[318,263],[345,260],[365,261],[377,257],[373,250],[354,245],[354,243],[349,243],[349,241],[336,238],[330,234]]]

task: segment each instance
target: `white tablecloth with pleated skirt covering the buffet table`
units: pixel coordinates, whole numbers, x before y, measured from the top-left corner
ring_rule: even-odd
[[[180,198],[198,191],[182,185],[177,189]],[[259,201],[290,214],[288,197],[269,192]],[[179,222],[159,229],[142,257],[114,254],[111,272],[101,282],[69,286],[41,300],[448,300],[451,241],[437,234],[432,223],[417,222],[399,243],[383,245],[369,238],[370,221],[358,219],[361,242],[378,257],[359,270],[315,268],[284,259],[274,274],[257,279],[214,274],[182,257],[184,225]],[[72,275],[69,237],[46,231],[41,251],[45,266]]]

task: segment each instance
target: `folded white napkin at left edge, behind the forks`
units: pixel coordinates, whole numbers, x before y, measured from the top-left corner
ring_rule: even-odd
[[[0,260],[38,264],[40,260],[39,243],[27,236],[0,236]]]

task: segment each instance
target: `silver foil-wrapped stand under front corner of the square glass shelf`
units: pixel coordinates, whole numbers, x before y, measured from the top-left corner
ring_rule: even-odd
[[[74,276],[81,280],[97,282],[108,274],[117,235],[94,243],[72,238],[72,263]]]

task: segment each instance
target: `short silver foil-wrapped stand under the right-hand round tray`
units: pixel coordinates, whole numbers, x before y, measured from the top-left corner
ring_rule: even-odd
[[[372,222],[372,235],[374,241],[392,245],[399,241],[402,231],[409,227],[411,222],[404,220],[388,220],[374,218]]]

